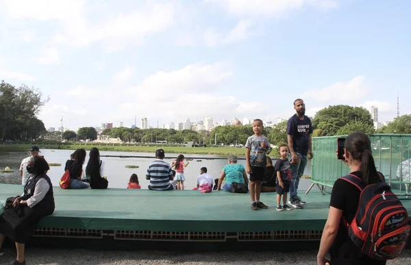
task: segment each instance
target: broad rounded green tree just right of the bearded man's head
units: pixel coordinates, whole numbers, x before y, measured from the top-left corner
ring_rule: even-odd
[[[372,126],[370,112],[362,107],[334,105],[320,110],[312,119],[313,129],[322,129],[325,136],[334,136],[338,130],[353,123]]]

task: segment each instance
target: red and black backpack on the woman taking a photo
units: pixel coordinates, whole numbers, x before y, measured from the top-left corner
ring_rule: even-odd
[[[408,242],[408,212],[385,181],[366,186],[356,175],[342,177],[361,191],[351,224],[343,218],[349,238],[375,260],[393,260]]]

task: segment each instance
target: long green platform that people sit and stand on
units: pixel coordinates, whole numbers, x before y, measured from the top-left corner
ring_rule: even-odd
[[[1,199],[21,194],[18,185],[0,184]],[[277,212],[275,192],[263,193],[267,210],[250,210],[249,194],[195,190],[61,190],[54,188],[56,209],[38,224],[38,236],[136,240],[222,237],[245,240],[319,239],[328,214],[329,194],[301,191],[307,205]],[[404,200],[411,212],[411,201]],[[287,231],[288,234],[284,234]],[[196,234],[197,233],[197,234]],[[311,236],[310,236],[311,235]],[[303,238],[301,238],[303,239]]]

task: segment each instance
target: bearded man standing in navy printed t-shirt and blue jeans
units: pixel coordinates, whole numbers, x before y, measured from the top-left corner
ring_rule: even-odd
[[[297,196],[299,180],[306,169],[307,159],[312,159],[312,124],[306,116],[306,104],[302,99],[294,101],[297,112],[287,123],[288,148],[291,153],[291,185],[290,203],[295,208],[301,208],[306,202]]]

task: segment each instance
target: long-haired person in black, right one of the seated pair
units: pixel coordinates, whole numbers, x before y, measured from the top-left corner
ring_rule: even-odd
[[[90,150],[90,158],[86,166],[86,178],[89,180],[90,188],[103,190],[108,187],[108,181],[104,175],[104,161],[100,159],[97,147]]]

